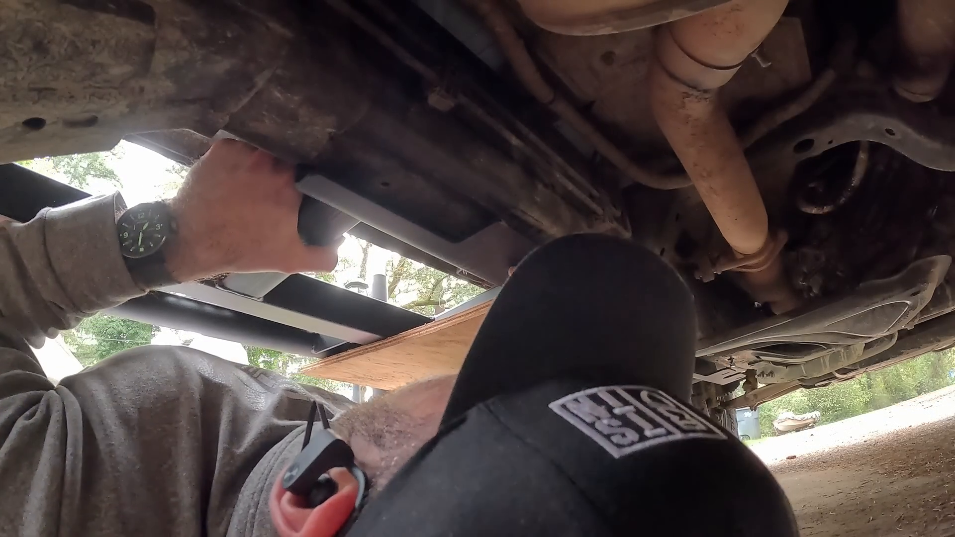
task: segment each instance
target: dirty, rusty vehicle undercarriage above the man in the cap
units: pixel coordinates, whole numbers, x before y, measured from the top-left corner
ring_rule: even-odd
[[[955,344],[944,0],[0,0],[0,37],[0,162],[247,140],[352,233],[487,289],[548,239],[632,238],[690,282],[721,416]],[[2,167],[15,217],[42,178]],[[242,294],[316,318],[310,285]],[[146,300],[262,316],[196,286]],[[267,343],[316,356],[429,320],[292,317]]]

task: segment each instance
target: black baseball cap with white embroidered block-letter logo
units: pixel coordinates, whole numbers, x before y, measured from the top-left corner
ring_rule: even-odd
[[[798,535],[769,470],[690,398],[677,272],[605,235],[524,259],[433,440],[349,536]]]

